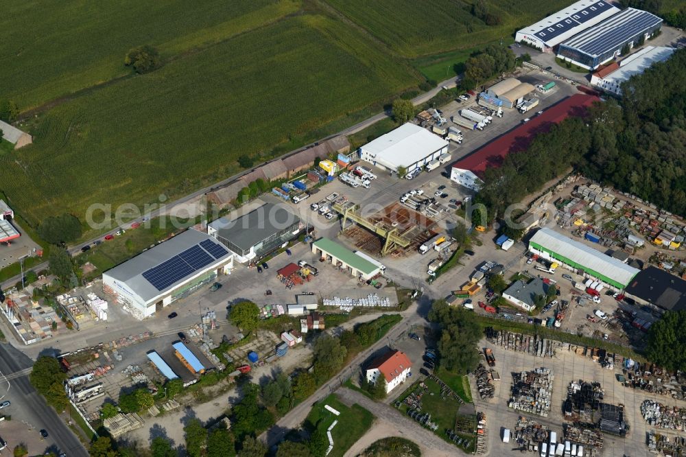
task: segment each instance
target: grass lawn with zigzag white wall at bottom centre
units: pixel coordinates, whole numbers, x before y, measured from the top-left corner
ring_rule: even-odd
[[[337,410],[340,415],[336,416],[324,408],[325,405]],[[362,406],[353,405],[348,408],[338,401],[334,394],[331,394],[312,408],[307,414],[305,422],[311,430],[317,429],[326,433],[333,421],[338,421],[335,427],[331,429],[333,449],[329,453],[329,457],[342,457],[370,429],[373,420],[372,413]]]

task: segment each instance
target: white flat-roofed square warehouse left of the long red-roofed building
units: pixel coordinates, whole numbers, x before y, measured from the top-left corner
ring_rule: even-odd
[[[410,173],[448,152],[448,142],[425,128],[403,124],[359,148],[359,158],[376,167]]]

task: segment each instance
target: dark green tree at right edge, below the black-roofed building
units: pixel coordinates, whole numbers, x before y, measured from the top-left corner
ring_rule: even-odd
[[[666,312],[653,323],[646,356],[667,370],[686,370],[686,311]]]

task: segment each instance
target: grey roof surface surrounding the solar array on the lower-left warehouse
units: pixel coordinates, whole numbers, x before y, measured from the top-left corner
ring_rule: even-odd
[[[120,265],[115,266],[115,268],[107,270],[104,272],[103,276],[113,278],[125,284],[126,287],[141,297],[143,301],[150,301],[157,296],[163,296],[167,294],[167,292],[170,290],[174,290],[178,287],[178,285],[187,281],[187,279],[197,276],[202,272],[217,268],[217,266],[226,263],[226,260],[228,260],[231,256],[230,253],[226,253],[226,255],[220,257],[219,259],[215,259],[215,261],[209,263],[209,265],[200,268],[199,270],[195,270],[185,277],[182,277],[164,290],[157,290],[157,288],[155,288],[149,281],[147,281],[147,279],[143,277],[143,272],[150,270],[150,268],[159,266],[161,263],[164,263],[188,248],[196,246],[196,244],[200,244],[200,242],[205,240],[210,240],[214,244],[222,246],[210,235],[194,229],[189,229],[171,239],[167,239],[167,241],[158,244],[152,249],[146,250],[144,253],[137,255],[133,259],[121,263]]]

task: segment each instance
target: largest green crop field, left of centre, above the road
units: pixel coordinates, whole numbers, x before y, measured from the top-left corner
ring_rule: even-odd
[[[93,202],[156,202],[416,82],[350,28],[294,16],[52,108],[33,145],[0,156],[0,179],[34,224],[82,218]]]

